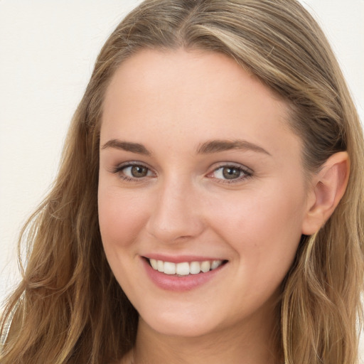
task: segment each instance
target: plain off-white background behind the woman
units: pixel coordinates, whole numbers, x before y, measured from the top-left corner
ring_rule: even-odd
[[[0,0],[0,301],[16,240],[45,196],[102,43],[137,0]],[[341,63],[361,119],[364,1],[304,0]]]

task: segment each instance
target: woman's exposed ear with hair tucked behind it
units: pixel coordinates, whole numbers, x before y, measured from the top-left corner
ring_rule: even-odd
[[[346,151],[333,154],[315,174],[307,198],[302,234],[312,235],[330,218],[348,186],[350,160]]]

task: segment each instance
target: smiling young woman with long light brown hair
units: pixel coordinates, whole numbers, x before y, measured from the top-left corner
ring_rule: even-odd
[[[1,363],[358,363],[363,155],[296,1],[144,1],[23,230]]]

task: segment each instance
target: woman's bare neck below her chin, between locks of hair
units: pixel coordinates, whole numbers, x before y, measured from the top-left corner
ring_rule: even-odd
[[[251,322],[246,325],[239,323],[229,330],[221,329],[197,337],[181,337],[158,333],[139,319],[133,364],[282,363],[274,337],[276,322],[269,321],[272,319],[264,319],[259,325],[253,325],[254,329]]]

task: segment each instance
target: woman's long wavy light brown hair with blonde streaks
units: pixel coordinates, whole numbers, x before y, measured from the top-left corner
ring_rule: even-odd
[[[21,233],[28,256],[4,313],[2,333],[15,312],[1,363],[109,363],[134,345],[137,312],[107,264],[97,222],[102,103],[123,60],[181,47],[228,55],[286,100],[308,173],[348,151],[346,194],[326,225],[301,239],[277,334],[287,364],[358,363],[363,134],[325,36],[295,0],[146,0],[117,26],[73,117],[53,189]]]

